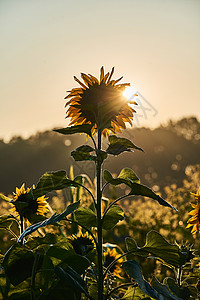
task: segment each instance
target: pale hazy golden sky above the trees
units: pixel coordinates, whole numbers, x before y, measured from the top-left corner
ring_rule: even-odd
[[[0,138],[66,127],[73,76],[124,76],[135,126],[200,119],[199,0],[0,0]]]

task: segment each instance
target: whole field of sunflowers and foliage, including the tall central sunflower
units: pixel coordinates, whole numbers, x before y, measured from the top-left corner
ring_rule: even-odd
[[[0,299],[199,299],[200,165],[164,196],[131,168],[105,168],[109,157],[143,151],[120,135],[137,102],[113,73],[74,77],[70,124],[55,130],[86,136],[71,156],[93,166],[94,180],[71,166],[0,195]]]

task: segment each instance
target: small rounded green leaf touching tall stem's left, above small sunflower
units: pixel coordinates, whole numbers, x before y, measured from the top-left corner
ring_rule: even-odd
[[[96,214],[88,207],[80,207],[75,213],[75,220],[87,228],[97,226]]]

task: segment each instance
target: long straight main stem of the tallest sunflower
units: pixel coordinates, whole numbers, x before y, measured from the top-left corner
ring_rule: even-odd
[[[101,130],[98,131],[98,149],[96,162],[96,180],[97,180],[97,256],[98,256],[98,300],[103,300],[103,236],[102,236],[102,212],[101,212],[101,167],[102,160],[99,155],[101,151]]]

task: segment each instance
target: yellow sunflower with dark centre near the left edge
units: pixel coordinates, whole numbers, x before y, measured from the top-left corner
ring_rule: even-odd
[[[33,188],[35,188],[33,186]],[[25,189],[24,184],[20,189],[16,187],[14,200],[11,201],[12,209],[20,218],[32,223],[34,215],[44,215],[48,211],[45,196],[34,199],[30,188]]]

